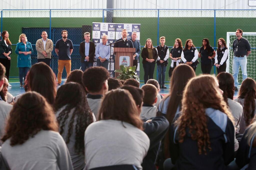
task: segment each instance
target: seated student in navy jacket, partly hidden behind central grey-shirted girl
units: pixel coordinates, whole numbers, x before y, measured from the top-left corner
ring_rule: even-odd
[[[123,86],[121,89],[126,89],[132,94],[132,97],[140,112],[144,96],[143,90],[129,85]],[[143,127],[143,131],[150,139],[150,147],[141,165],[143,169],[156,170],[155,161],[158,155],[160,141],[164,138],[165,133],[168,130],[169,122],[164,116],[156,116],[144,122]]]

